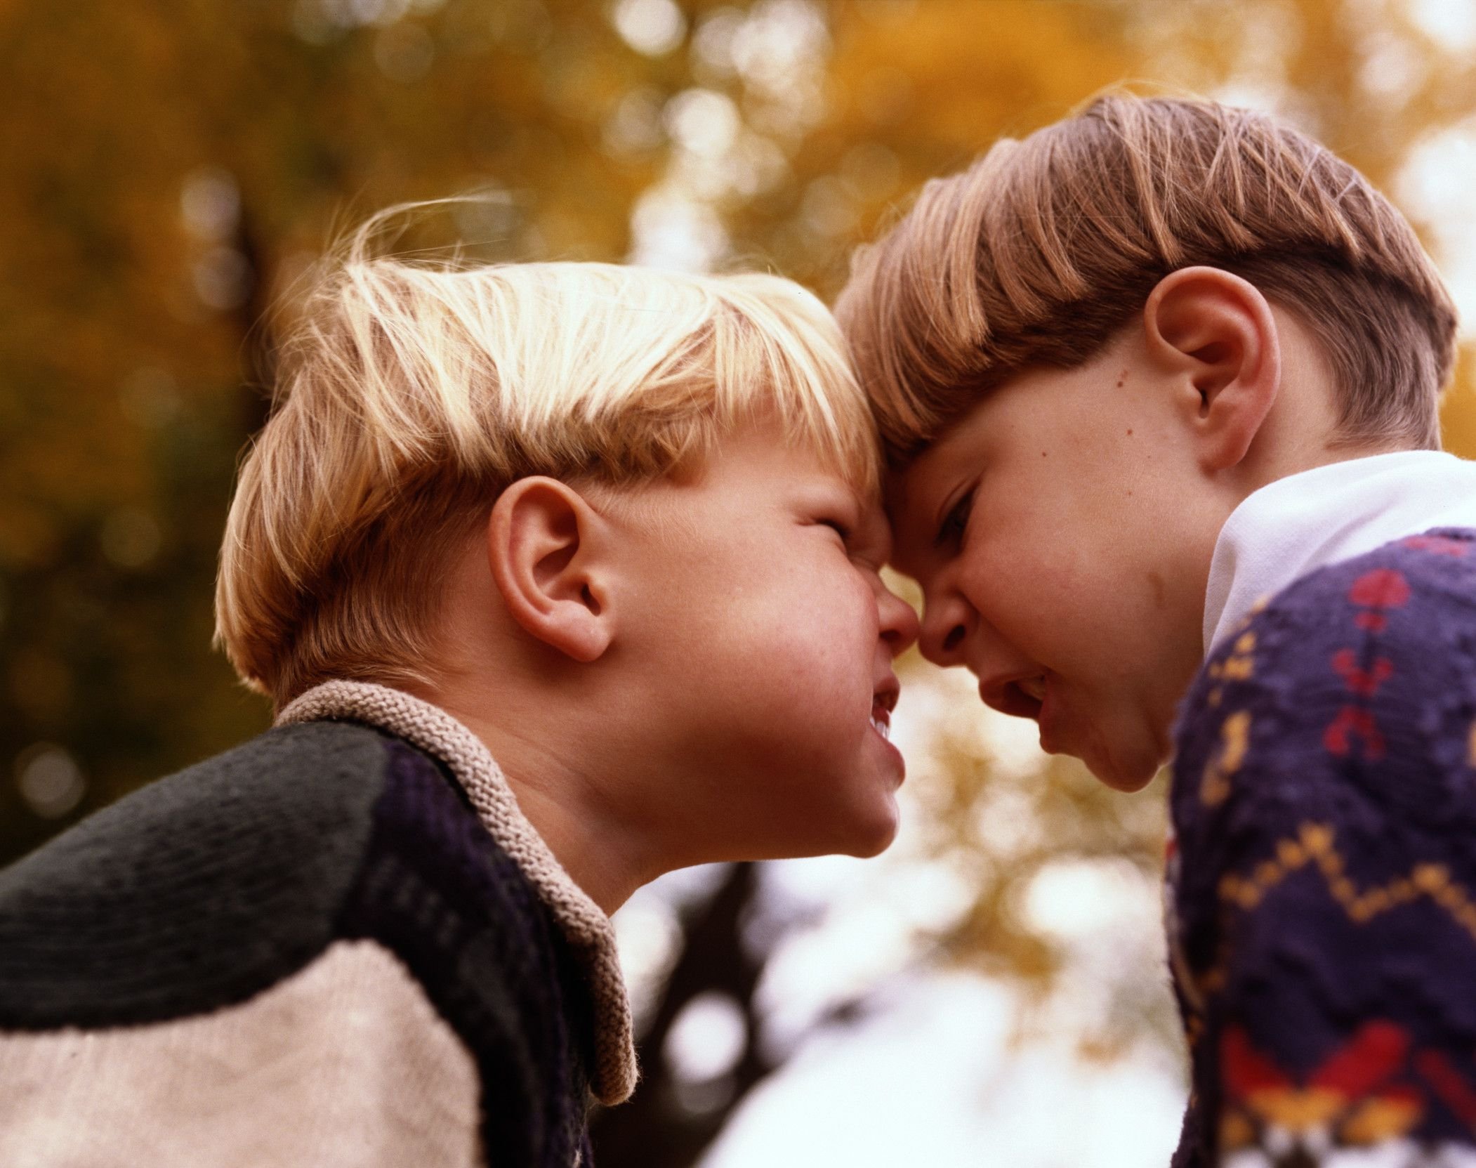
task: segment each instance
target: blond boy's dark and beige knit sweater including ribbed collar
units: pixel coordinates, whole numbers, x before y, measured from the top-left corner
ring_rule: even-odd
[[[0,1164],[587,1164],[608,918],[487,749],[331,682],[0,871]]]

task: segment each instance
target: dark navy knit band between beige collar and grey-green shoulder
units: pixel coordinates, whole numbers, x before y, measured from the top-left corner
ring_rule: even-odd
[[[384,794],[338,930],[390,948],[471,1050],[493,1164],[567,1168],[593,1057],[583,969],[437,765],[397,738],[384,746]]]

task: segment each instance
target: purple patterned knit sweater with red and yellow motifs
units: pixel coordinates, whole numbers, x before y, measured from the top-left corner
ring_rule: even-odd
[[[1176,1165],[1476,1165],[1476,533],[1314,571],[1176,729]]]

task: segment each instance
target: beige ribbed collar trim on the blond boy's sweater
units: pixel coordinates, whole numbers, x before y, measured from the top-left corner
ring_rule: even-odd
[[[276,724],[322,719],[379,726],[450,766],[483,827],[554,911],[584,967],[595,1000],[595,1096],[607,1105],[629,1099],[636,1085],[636,1051],[630,998],[615,955],[615,930],[528,822],[481,738],[438,706],[359,681],[329,681],[308,690],[277,715]]]

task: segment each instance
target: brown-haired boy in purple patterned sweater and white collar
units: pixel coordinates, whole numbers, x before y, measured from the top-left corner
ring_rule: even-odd
[[[1476,1164],[1476,467],[1405,220],[1108,96],[928,183],[837,315],[924,656],[1113,787],[1173,756],[1175,1162]]]

